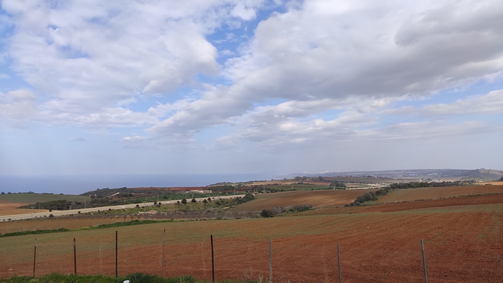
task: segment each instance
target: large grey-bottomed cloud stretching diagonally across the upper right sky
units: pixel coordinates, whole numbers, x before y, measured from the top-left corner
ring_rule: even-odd
[[[354,97],[426,97],[500,76],[501,4],[324,4],[305,2],[262,21],[224,64],[230,86],[217,85],[151,130],[197,132],[260,112],[250,103],[269,99],[288,100],[276,115],[294,118],[306,105],[323,111]]]

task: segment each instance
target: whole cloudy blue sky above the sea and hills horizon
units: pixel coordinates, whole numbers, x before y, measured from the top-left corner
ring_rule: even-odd
[[[503,169],[503,2],[0,2],[0,175]]]

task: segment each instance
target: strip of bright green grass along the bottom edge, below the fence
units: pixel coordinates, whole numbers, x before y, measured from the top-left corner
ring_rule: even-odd
[[[157,275],[149,275],[143,273],[134,273],[121,277],[112,277],[104,275],[62,275],[59,273],[51,273],[45,276],[32,278],[29,276],[14,276],[11,278],[0,278],[0,283],[22,283],[22,282],[39,282],[39,283],[122,283],[129,280],[130,283],[205,283],[205,280],[196,280],[191,275],[181,277],[163,278]],[[255,283],[257,281],[217,281],[219,283]]]

